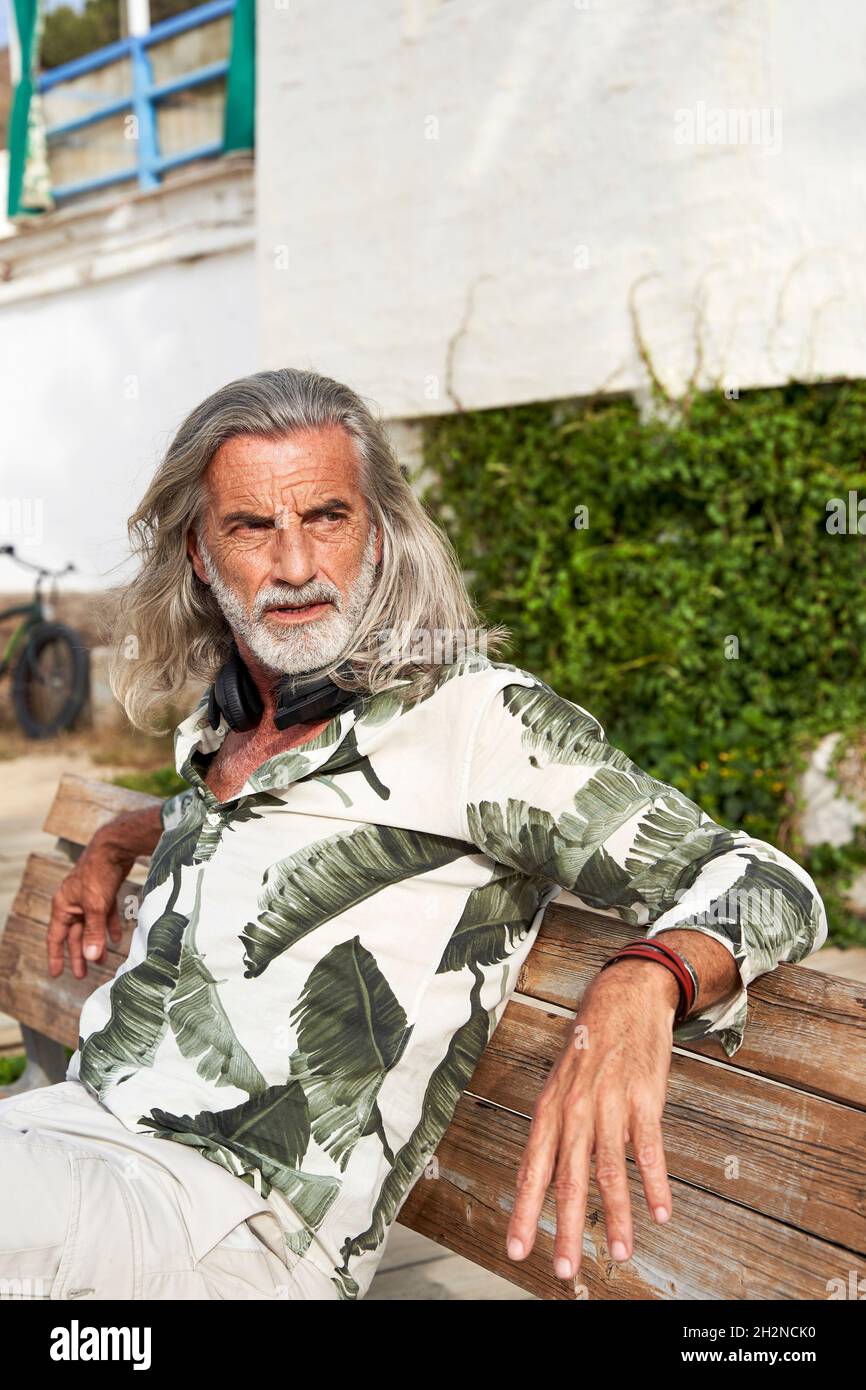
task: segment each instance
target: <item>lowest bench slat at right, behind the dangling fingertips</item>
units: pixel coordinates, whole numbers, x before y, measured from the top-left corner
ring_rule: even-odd
[[[505,1252],[514,1201],[514,1175],[528,1120],[487,1101],[463,1095],[436,1151],[438,1176],[421,1177],[398,1220],[539,1298],[581,1297],[553,1273],[556,1211],[549,1194],[531,1255]],[[435,1169],[434,1169],[435,1170]],[[781,1222],[723,1201],[714,1193],[671,1182],[673,1215],[657,1226],[628,1162],[634,1255],[617,1265],[607,1255],[601,1204],[589,1184],[584,1261],[578,1276],[589,1298],[827,1298],[830,1280],[860,1279],[866,1259]]]

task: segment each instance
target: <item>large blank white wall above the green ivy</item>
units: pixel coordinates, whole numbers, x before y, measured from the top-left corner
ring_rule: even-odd
[[[865,375],[865,54],[856,0],[260,7],[263,366],[391,417],[631,391],[634,304],[674,392]],[[683,143],[701,103],[759,114]]]

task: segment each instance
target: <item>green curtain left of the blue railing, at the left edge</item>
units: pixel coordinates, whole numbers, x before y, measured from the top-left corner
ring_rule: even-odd
[[[8,136],[7,215],[44,213],[54,206],[42,97],[36,90],[43,14],[40,0],[14,0],[13,18],[21,46],[21,81],[13,96]]]

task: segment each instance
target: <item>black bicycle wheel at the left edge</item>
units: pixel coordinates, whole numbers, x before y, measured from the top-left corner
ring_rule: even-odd
[[[28,738],[71,728],[88,699],[90,663],[83,639],[64,623],[39,623],[13,673],[13,705]]]

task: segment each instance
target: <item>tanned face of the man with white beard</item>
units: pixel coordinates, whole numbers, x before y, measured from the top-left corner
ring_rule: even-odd
[[[382,556],[349,435],[310,430],[229,439],[204,474],[195,571],[253,655],[275,671],[335,660],[356,630]]]

